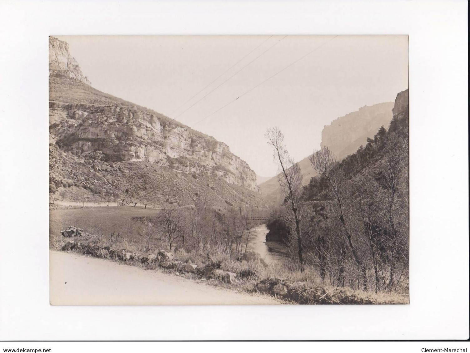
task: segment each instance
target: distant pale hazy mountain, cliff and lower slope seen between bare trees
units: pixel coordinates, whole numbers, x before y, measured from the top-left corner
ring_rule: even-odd
[[[392,120],[393,102],[380,103],[373,106],[359,108],[325,125],[321,131],[321,147],[328,146],[339,160],[348,154],[356,152],[359,146],[367,142],[368,137],[374,136],[382,126],[388,126]],[[312,148],[313,151],[313,148]],[[302,184],[307,185],[316,172],[310,165],[308,157],[299,161],[302,172]],[[281,189],[277,176],[259,185],[263,198],[271,204],[281,201]]]

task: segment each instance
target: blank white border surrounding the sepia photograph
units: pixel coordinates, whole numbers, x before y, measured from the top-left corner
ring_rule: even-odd
[[[49,306],[47,37],[78,34],[408,34],[410,305]],[[469,338],[466,1],[1,1],[0,40],[0,340]]]

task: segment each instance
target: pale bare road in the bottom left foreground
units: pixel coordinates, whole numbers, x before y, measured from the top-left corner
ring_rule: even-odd
[[[186,278],[83,255],[50,251],[52,305],[280,304]]]

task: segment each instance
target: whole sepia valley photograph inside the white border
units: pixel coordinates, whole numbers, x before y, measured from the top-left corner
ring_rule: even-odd
[[[50,304],[409,304],[407,35],[48,40]]]

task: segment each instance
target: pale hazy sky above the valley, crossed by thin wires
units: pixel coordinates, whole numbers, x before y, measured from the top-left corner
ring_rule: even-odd
[[[69,43],[94,88],[227,143],[260,176],[277,173],[266,129],[278,126],[292,157],[301,160],[320,147],[324,125],[359,107],[394,101],[408,88],[407,36],[58,38]]]

